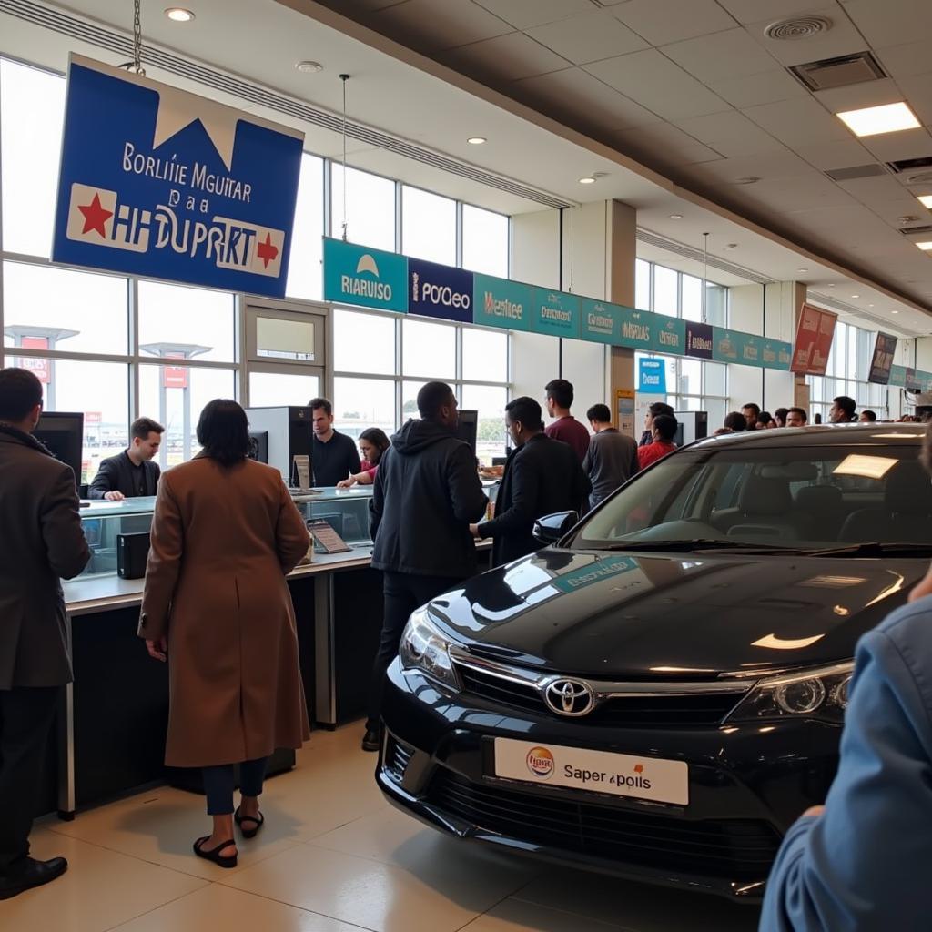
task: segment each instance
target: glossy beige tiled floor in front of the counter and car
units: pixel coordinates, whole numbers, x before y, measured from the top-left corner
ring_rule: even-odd
[[[560,870],[423,828],[382,801],[361,728],[315,732],[268,781],[236,870],[194,857],[202,800],[158,788],[34,830],[61,880],[0,902],[3,932],[751,932],[718,899]]]

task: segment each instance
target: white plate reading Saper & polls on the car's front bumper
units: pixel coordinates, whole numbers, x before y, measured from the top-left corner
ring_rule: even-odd
[[[683,761],[496,738],[495,775],[680,806],[690,802],[689,767]]]

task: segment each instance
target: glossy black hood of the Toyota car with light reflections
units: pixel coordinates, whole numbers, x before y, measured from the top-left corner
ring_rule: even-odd
[[[927,559],[549,548],[434,599],[488,659],[589,677],[713,678],[833,663],[903,604]]]

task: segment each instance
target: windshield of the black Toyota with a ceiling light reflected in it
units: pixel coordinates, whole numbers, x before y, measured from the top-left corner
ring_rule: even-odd
[[[919,446],[699,445],[658,463],[585,521],[574,549],[755,548],[857,553],[928,545]]]

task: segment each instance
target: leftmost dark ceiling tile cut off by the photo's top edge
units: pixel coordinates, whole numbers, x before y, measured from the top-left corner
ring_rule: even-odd
[[[372,17],[377,32],[404,38],[410,48],[453,48],[514,32],[514,27],[473,3],[405,0]]]

